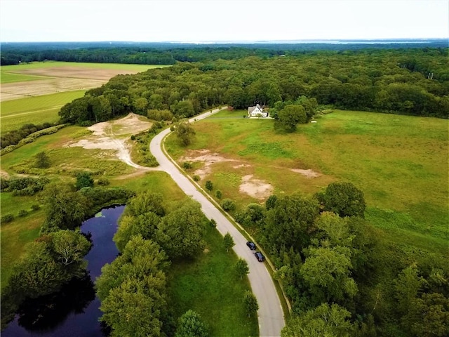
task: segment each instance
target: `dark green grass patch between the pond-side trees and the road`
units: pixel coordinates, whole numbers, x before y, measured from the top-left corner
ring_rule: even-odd
[[[208,227],[202,255],[170,266],[168,306],[175,319],[192,309],[208,325],[209,336],[259,336],[257,317],[248,317],[243,305],[243,293],[250,290],[248,278],[236,274],[236,261],[221,234]]]

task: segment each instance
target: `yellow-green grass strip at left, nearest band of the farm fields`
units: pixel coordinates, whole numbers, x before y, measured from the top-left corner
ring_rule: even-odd
[[[67,91],[0,103],[0,133],[17,130],[23,124],[54,123],[59,120],[58,112],[66,103],[80,98],[86,91]]]

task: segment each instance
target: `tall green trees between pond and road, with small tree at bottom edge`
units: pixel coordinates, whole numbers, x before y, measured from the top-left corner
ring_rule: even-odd
[[[165,273],[170,260],[194,258],[203,251],[207,223],[199,204],[190,199],[170,213],[161,194],[144,192],[130,200],[114,235],[121,255],[102,268],[96,281],[102,322],[112,336],[165,336]],[[198,335],[188,334],[194,331]],[[176,334],[206,336],[206,328],[189,311],[180,318]]]

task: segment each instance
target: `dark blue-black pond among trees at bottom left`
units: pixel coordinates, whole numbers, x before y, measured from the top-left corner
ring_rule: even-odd
[[[98,322],[102,315],[100,300],[95,297],[93,282],[100,276],[101,267],[111,263],[119,253],[112,237],[124,208],[116,206],[103,209],[102,217],[86,220],[81,226],[82,232],[91,232],[93,240],[93,247],[85,257],[89,275],[71,282],[60,293],[27,302],[13,322],[1,332],[2,337],[103,336]],[[39,324],[36,324],[36,317],[39,317]]]

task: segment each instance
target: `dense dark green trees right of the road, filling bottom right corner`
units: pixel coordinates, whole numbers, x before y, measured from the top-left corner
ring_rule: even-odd
[[[293,305],[281,336],[449,332],[448,259],[391,253],[363,219],[365,207],[354,185],[332,183],[314,196],[272,196],[265,209],[250,204],[236,215],[269,251]]]

